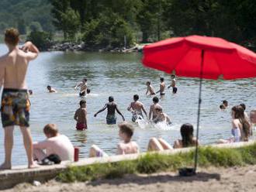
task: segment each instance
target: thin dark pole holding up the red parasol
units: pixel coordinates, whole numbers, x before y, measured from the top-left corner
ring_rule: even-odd
[[[203,57],[204,57],[205,51],[201,51],[201,64],[200,64],[200,83],[199,83],[199,106],[198,106],[198,113],[197,113],[197,125],[196,125],[196,143],[195,143],[195,167],[194,171],[196,173],[196,167],[197,167],[197,161],[199,156],[199,122],[200,122],[200,109],[201,109],[201,93],[202,93],[202,67],[203,67]]]

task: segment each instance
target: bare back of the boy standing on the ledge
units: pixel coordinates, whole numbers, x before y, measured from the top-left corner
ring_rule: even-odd
[[[29,60],[31,60],[31,52],[24,52],[16,47],[14,50],[0,57],[0,64],[4,67],[4,87],[15,89],[26,89],[26,71]],[[37,54],[36,54],[37,56]]]

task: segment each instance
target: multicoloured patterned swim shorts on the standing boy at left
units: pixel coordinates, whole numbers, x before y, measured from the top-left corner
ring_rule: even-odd
[[[11,125],[29,127],[29,94],[25,89],[2,91],[1,118],[3,128]]]

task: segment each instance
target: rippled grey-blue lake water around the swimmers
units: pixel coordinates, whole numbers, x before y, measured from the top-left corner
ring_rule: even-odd
[[[6,47],[0,44],[0,54],[5,53]],[[131,114],[126,110],[133,100],[133,94],[140,95],[147,112],[152,103],[152,97],[145,95],[146,81],[156,91],[159,87],[159,77],[170,83],[170,75],[161,71],[143,67],[140,63],[141,53],[72,53],[72,52],[45,52],[29,63],[27,82],[33,90],[30,98],[32,103],[30,113],[31,132],[33,141],[45,139],[43,126],[47,123],[56,123],[61,133],[67,135],[74,146],[80,147],[80,158],[88,157],[88,149],[92,144],[99,145],[106,153],[115,154],[116,144],[119,142],[117,125],[106,125],[106,111],[97,118],[94,114],[113,95],[119,110],[126,120],[131,122]],[[74,85],[82,77],[88,78],[88,130],[76,131],[74,111],[78,108],[81,98]],[[217,139],[230,137],[230,108],[220,111],[219,105],[227,99],[229,105],[244,103],[247,111],[256,108],[255,87],[256,79],[239,81],[203,81],[202,110],[199,139],[202,144],[216,142]],[[50,84],[58,92],[47,93]],[[159,128],[153,125],[141,128],[136,123],[133,139],[137,141],[141,151],[147,150],[147,142],[152,136],[161,137],[173,144],[180,137],[180,126],[190,122],[196,127],[199,80],[192,78],[177,78],[178,93],[166,95],[160,104],[171,117],[170,127]],[[122,118],[117,114],[117,122]],[[0,162],[4,159],[4,132],[0,125]],[[12,164],[26,164],[26,153],[22,144],[22,135],[19,128],[15,129],[15,139],[12,151]]]

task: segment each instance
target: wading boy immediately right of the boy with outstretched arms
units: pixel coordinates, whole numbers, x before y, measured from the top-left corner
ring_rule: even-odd
[[[133,102],[130,103],[129,107],[127,108],[128,111],[131,111],[133,113],[132,121],[136,122],[138,115],[140,115],[143,118],[142,111],[144,111],[144,114],[147,117],[147,112],[144,109],[144,105],[142,102],[138,101],[139,95],[134,94],[133,95]]]

